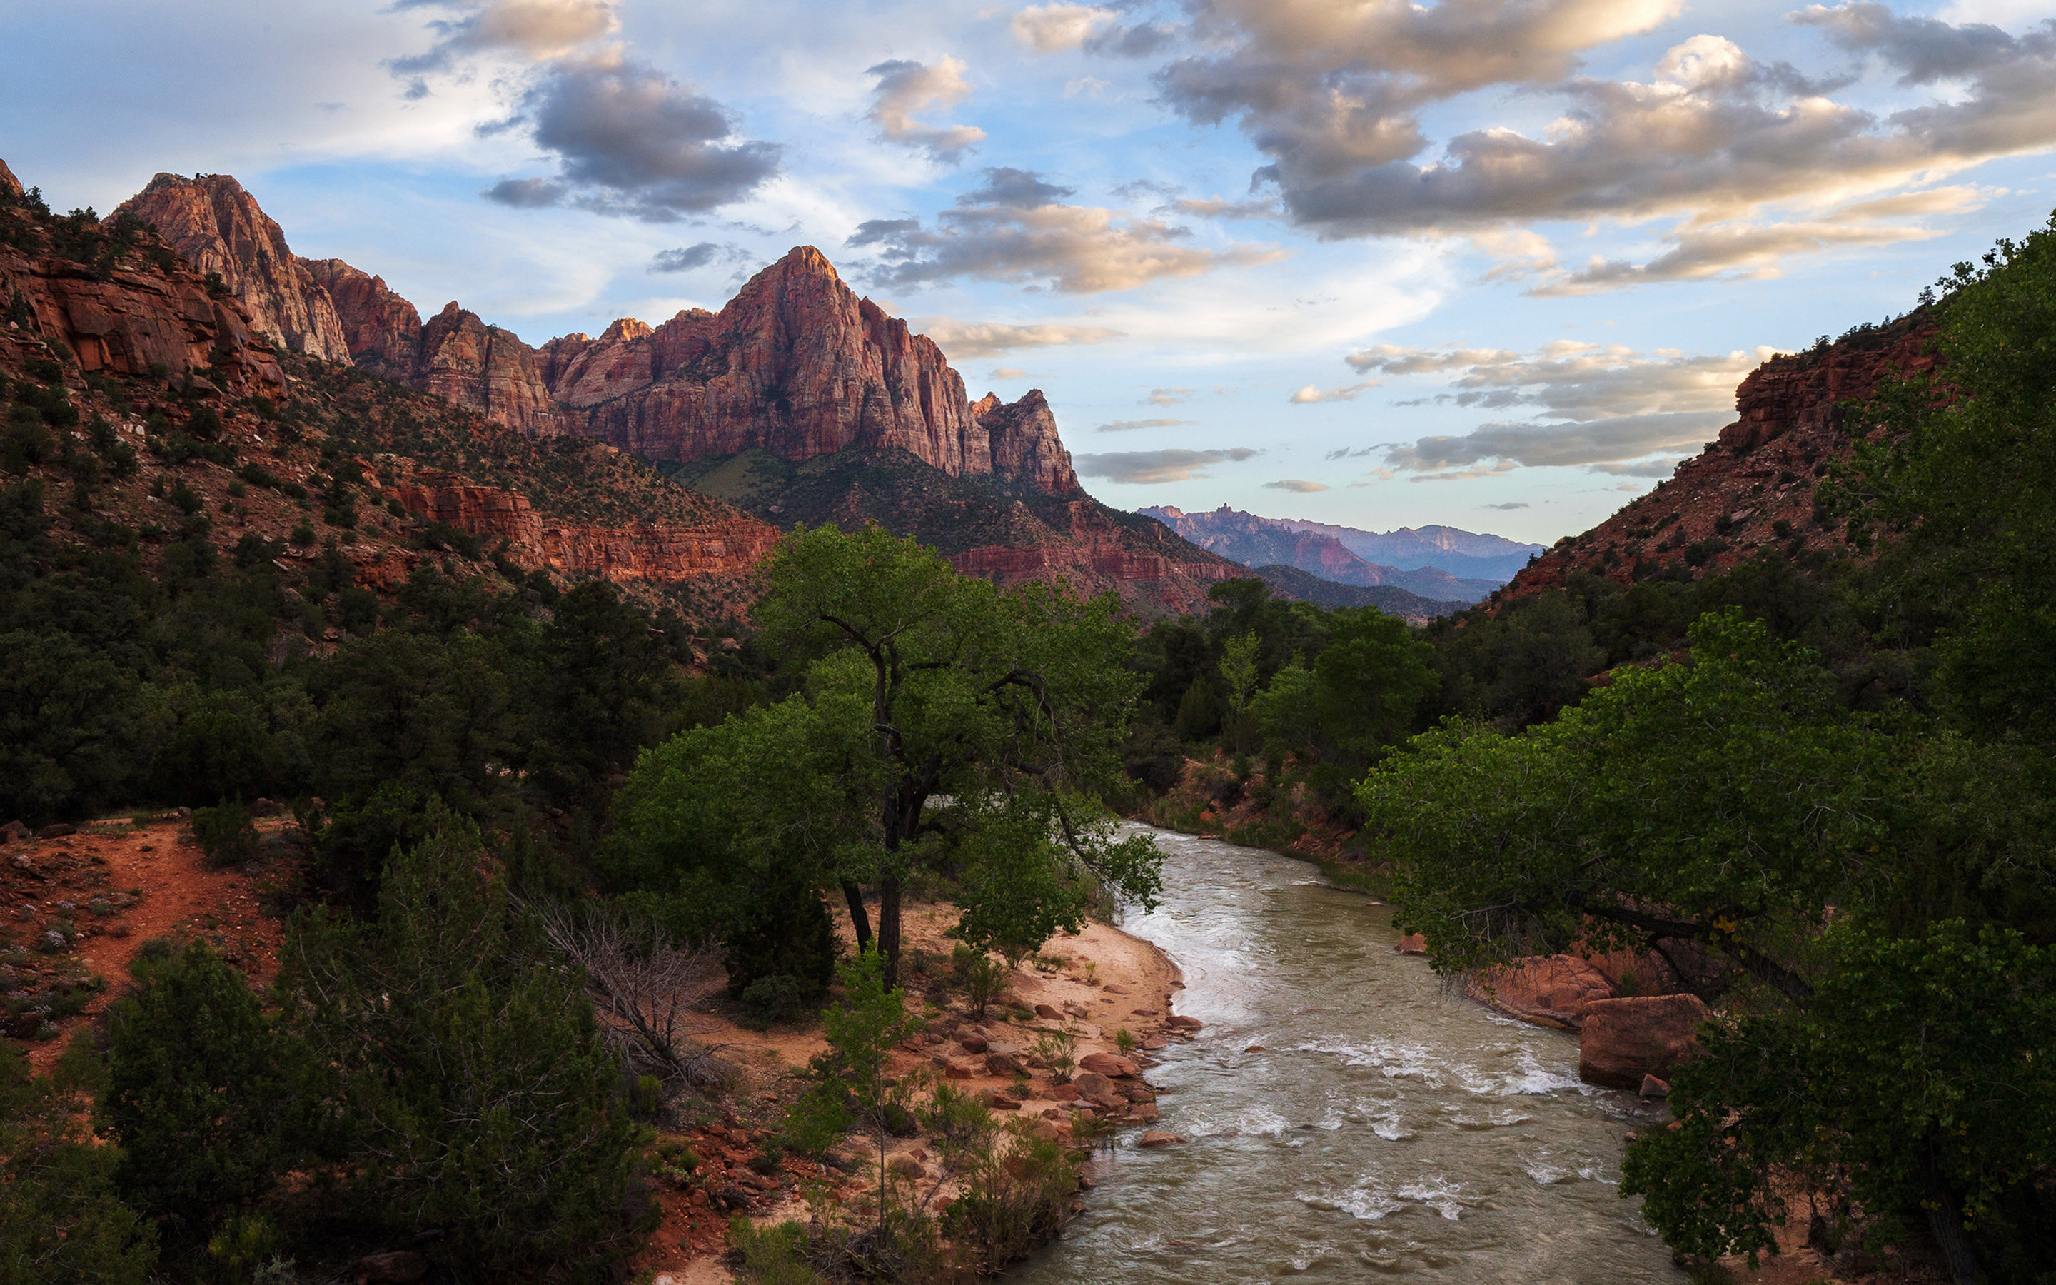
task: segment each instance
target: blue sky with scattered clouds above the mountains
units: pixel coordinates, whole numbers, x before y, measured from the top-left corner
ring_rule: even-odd
[[[0,45],[53,206],[232,173],[530,343],[816,245],[1108,504],[1369,528],[1583,530],[1762,354],[2056,206],[2021,0],[80,0]]]

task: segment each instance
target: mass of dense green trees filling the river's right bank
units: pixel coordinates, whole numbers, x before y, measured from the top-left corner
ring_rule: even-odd
[[[1486,650],[1649,662],[1577,703],[1526,664],[1536,697],[1357,794],[1437,966],[1649,948],[1723,1003],[1622,1184],[1674,1246],[1760,1252],[1813,1192],[1830,1244],[1931,1234],[2025,1285],[2056,1279],[2056,224],[1945,286],[1941,374],[1850,415],[1818,493],[1869,565],[1573,582]]]

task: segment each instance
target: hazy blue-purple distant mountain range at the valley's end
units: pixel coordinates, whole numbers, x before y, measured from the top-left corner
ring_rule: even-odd
[[[1248,567],[1287,565],[1336,584],[1388,584],[1439,602],[1478,602],[1544,551],[1544,545],[1521,545],[1456,526],[1357,530],[1297,518],[1260,518],[1225,504],[1211,514],[1170,506],[1139,512],[1201,549]]]

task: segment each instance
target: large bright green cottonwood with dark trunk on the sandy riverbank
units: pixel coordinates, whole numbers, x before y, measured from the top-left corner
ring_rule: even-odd
[[[623,882],[678,890],[804,870],[843,894],[888,987],[901,894],[925,857],[958,864],[968,888],[1014,870],[1012,905],[987,898],[991,929],[975,925],[989,940],[1075,927],[1092,882],[1151,903],[1162,853],[1118,839],[1098,802],[1118,779],[1139,689],[1112,596],[999,592],[878,526],[798,530],[765,582],[767,635],[816,656],[806,691],[637,761],[615,812]],[[1040,892],[1022,898],[1030,886]]]

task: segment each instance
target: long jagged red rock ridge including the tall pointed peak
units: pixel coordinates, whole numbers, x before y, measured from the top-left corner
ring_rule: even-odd
[[[158,175],[121,212],[156,226],[195,271],[218,271],[273,343],[356,362],[526,434],[592,436],[654,461],[898,448],[952,477],[1077,491],[1040,391],[1012,405],[970,401],[931,339],[859,298],[814,247],[765,267],[720,313],[687,308],[654,329],[623,319],[598,339],[535,350],[454,300],[424,325],[384,280],[294,257],[228,175]]]

